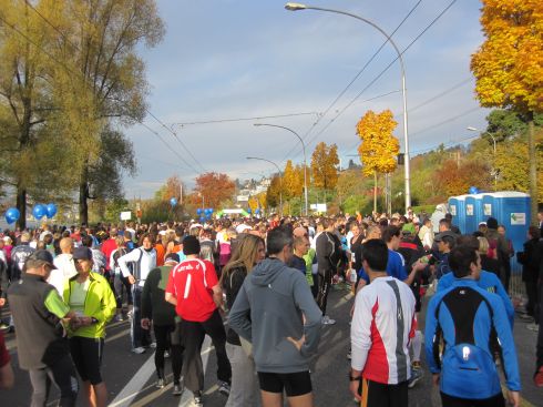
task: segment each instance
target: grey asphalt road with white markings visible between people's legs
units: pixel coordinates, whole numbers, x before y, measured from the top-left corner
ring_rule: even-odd
[[[319,356],[313,360],[311,378],[316,407],[356,406],[348,390],[347,373],[350,365],[346,357],[349,349],[349,309],[351,304],[352,297],[348,291],[334,289],[330,293],[329,315],[337,320],[337,324],[322,327]],[[423,320],[420,323],[423,324]],[[526,329],[525,325],[524,322],[516,319],[514,329],[522,374],[523,406],[543,407],[543,389],[534,387],[531,381],[534,370],[536,333]],[[13,334],[7,335],[7,344],[16,370],[16,387],[11,390],[0,391],[0,405],[28,406],[32,389],[28,374],[18,368]],[[215,355],[208,344],[208,338],[206,338],[203,347],[206,372],[204,405],[206,407],[222,407],[226,403],[226,397],[217,391]],[[166,362],[166,372],[171,372],[168,362]],[[150,349],[142,355],[134,355],[130,352],[127,322],[111,323],[107,327],[102,373],[110,394],[110,406],[166,407],[192,405],[189,391],[185,391],[181,397],[172,396],[171,375],[168,386],[163,389],[155,388],[153,352]],[[53,389],[50,396],[50,406],[55,405],[58,396],[58,391]],[[85,405],[81,395],[78,405]],[[409,406],[430,407],[440,405],[439,393],[431,385],[430,374],[426,370],[422,380],[409,390]]]

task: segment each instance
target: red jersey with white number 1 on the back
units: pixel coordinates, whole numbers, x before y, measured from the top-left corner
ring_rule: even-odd
[[[177,298],[175,312],[185,320],[209,319],[217,306],[213,301],[213,287],[218,284],[213,263],[187,258],[170,273],[166,293]]]

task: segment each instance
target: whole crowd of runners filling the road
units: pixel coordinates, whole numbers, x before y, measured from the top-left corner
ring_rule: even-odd
[[[543,318],[541,232],[542,224],[531,226],[519,254],[527,293],[522,317],[534,330]],[[154,352],[156,386],[166,386],[171,369],[173,396],[189,390],[194,405],[204,405],[201,352],[208,335],[226,406],[280,407],[286,396],[293,407],[309,407],[310,360],[318,357],[321,330],[337,328],[327,298],[341,284],[354,294],[345,352],[351,365],[346,387],[357,403],[407,406],[409,388],[426,372],[443,406],[504,406],[505,399],[519,406],[513,254],[495,218],[462,235],[450,215],[433,225],[412,211],[44,224],[0,238],[0,327],[14,332],[32,406],[45,405],[51,384],[61,406],[74,406],[80,390],[90,406],[105,406],[105,328],[130,319],[126,352]],[[418,323],[423,303],[424,332]],[[541,329],[534,381],[543,386]],[[0,387],[11,386],[0,332]]]

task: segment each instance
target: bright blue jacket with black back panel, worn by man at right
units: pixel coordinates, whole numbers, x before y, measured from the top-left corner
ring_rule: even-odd
[[[519,391],[519,363],[502,299],[480,288],[473,279],[454,279],[449,288],[433,296],[426,318],[424,348],[430,370],[441,374],[442,393],[484,399],[502,391],[490,349],[493,328],[501,345],[506,386]]]

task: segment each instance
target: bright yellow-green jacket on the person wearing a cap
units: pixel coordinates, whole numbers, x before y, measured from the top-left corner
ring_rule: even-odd
[[[100,274],[91,272],[89,274],[91,284],[86,292],[84,304],[84,316],[90,316],[98,319],[98,323],[82,326],[75,332],[68,329],[68,335],[82,336],[85,338],[103,338],[105,337],[105,324],[115,315],[116,302],[115,295],[110,287],[110,283]],[[70,278],[64,285],[64,303],[70,305],[70,295],[73,284],[78,279],[78,275]]]

